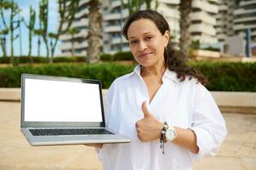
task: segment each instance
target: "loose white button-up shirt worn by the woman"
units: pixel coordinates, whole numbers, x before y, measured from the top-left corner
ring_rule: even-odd
[[[143,118],[141,105],[150,97],[140,66],[132,73],[117,78],[105,99],[107,127],[131,139],[128,144],[103,144],[98,151],[106,170],[177,170],[192,169],[193,160],[204,155],[214,155],[227,133],[225,121],[213,97],[201,83],[187,78],[180,82],[174,71],[165,71],[162,86],[148,103],[147,108],[161,122],[170,126],[190,128],[196,133],[199,153],[177,144],[160,141],[142,143],[137,137],[135,123]]]

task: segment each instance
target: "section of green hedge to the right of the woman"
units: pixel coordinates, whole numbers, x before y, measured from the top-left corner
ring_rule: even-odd
[[[190,65],[208,78],[209,90],[256,92],[256,63],[208,61]]]

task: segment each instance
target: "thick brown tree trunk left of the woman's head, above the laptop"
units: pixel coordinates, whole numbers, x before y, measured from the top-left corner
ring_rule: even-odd
[[[101,0],[89,2],[89,28],[88,28],[88,63],[100,61],[100,39],[101,39]]]

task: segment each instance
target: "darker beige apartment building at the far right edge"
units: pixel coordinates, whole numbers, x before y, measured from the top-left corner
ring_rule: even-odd
[[[218,5],[219,42],[225,42],[226,37],[245,37],[246,30],[250,30],[252,42],[256,42],[256,0],[219,0]]]

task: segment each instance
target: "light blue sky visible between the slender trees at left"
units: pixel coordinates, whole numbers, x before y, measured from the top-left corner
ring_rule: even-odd
[[[26,20],[26,23],[29,23],[29,18],[30,18],[30,6],[36,10],[36,25],[35,28],[38,29],[38,11],[39,11],[39,3],[40,0],[14,0],[14,3],[18,3],[19,8],[21,9],[20,16]],[[9,23],[9,13],[4,14],[5,20],[7,20],[7,23]],[[50,0],[48,1],[48,31],[55,31],[56,29],[56,23],[58,23],[58,4],[57,0]],[[3,23],[2,20],[0,20],[0,30],[3,29]],[[14,55],[20,55],[20,41],[21,41],[21,53],[22,55],[27,55],[28,54],[28,47],[29,47],[29,41],[28,41],[28,29],[24,25],[24,23],[21,24],[20,30],[16,29],[14,31],[14,35],[19,34],[19,31],[21,31],[21,40],[20,38],[17,38],[14,41]],[[10,38],[7,38],[7,54],[10,54]],[[37,55],[37,36],[33,36],[32,39],[32,55]],[[60,44],[60,41],[58,42]],[[57,47],[55,49],[55,56],[60,55],[60,50]],[[45,56],[46,55],[46,49],[43,44],[41,43],[41,55]],[[2,48],[0,48],[0,57],[2,57],[3,51]]]

